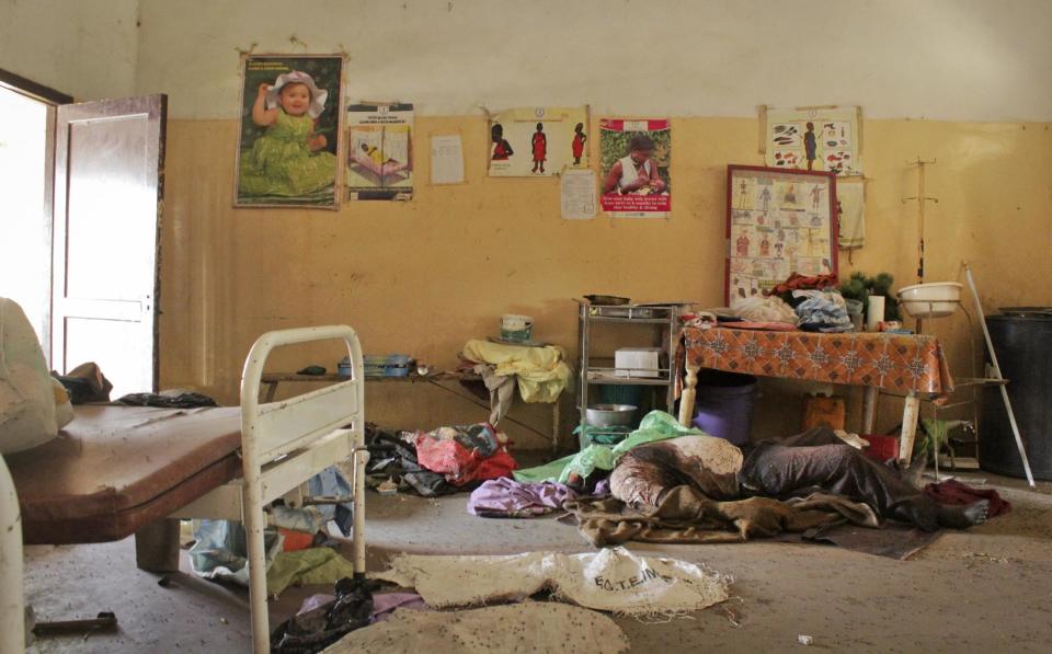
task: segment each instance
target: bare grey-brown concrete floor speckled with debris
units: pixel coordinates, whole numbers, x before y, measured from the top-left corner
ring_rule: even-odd
[[[970,475],[964,475],[967,480]],[[977,477],[977,475],[971,475]],[[639,552],[706,562],[735,577],[733,598],[687,619],[618,618],[638,652],[1048,651],[1052,642],[1052,483],[982,475],[1013,512],[968,532],[945,532],[910,561],[830,546],[755,541],[732,546],[632,546]],[[576,528],[542,518],[488,520],[466,496],[367,500],[369,566],[395,552],[590,551]],[[245,593],[183,573],[169,587],[135,567],[132,539],[31,547],[26,597],[39,619],[116,612],[112,634],[53,638],[31,652],[248,652]],[[324,587],[293,588],[272,603],[272,626]],[[735,624],[736,623],[736,624]]]

